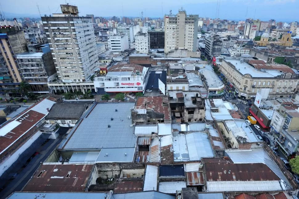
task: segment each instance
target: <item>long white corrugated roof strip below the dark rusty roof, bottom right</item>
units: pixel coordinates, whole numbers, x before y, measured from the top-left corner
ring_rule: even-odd
[[[281,188],[281,186],[283,188]],[[280,181],[213,181],[207,182],[207,190],[215,192],[230,191],[283,191],[286,190]]]

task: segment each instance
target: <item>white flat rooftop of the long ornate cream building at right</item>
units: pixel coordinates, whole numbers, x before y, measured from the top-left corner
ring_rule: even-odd
[[[279,72],[277,70],[257,70],[256,68],[250,66],[248,63],[245,63],[244,61],[241,63],[240,60],[229,60],[224,59],[226,62],[231,63],[236,67],[236,70],[238,70],[242,75],[250,74],[252,77],[258,77],[258,78],[273,78],[278,75],[283,75],[284,73]]]

